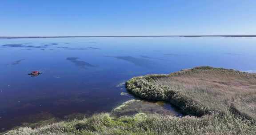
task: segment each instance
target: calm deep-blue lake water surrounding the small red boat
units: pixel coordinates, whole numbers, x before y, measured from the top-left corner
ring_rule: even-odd
[[[196,66],[256,71],[256,38],[0,40],[0,130],[51,117],[109,112],[133,97],[120,83]],[[32,77],[30,71],[42,71]]]

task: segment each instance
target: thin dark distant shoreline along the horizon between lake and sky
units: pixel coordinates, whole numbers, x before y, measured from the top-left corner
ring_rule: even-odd
[[[185,35],[185,36],[0,36],[0,39],[20,38],[82,38],[82,37],[256,37],[256,35]]]

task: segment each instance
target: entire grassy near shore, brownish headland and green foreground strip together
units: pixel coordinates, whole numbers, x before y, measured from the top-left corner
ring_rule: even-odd
[[[140,98],[171,103],[186,116],[101,113],[4,135],[255,135],[256,74],[195,67],[135,77],[126,87]]]

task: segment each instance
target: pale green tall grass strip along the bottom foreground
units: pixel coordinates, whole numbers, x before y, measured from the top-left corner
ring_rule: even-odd
[[[21,127],[4,135],[255,135],[256,126],[233,114],[168,117],[137,114],[112,117],[108,113],[39,128]]]

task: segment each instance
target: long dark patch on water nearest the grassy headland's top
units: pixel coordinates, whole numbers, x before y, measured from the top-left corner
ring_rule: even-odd
[[[140,59],[140,58],[135,58],[132,56],[106,56],[106,57],[116,58],[119,60],[125,60],[125,61],[128,61],[128,62],[135,64],[136,66],[140,66],[140,67],[152,67],[151,61],[145,60],[145,59]]]

